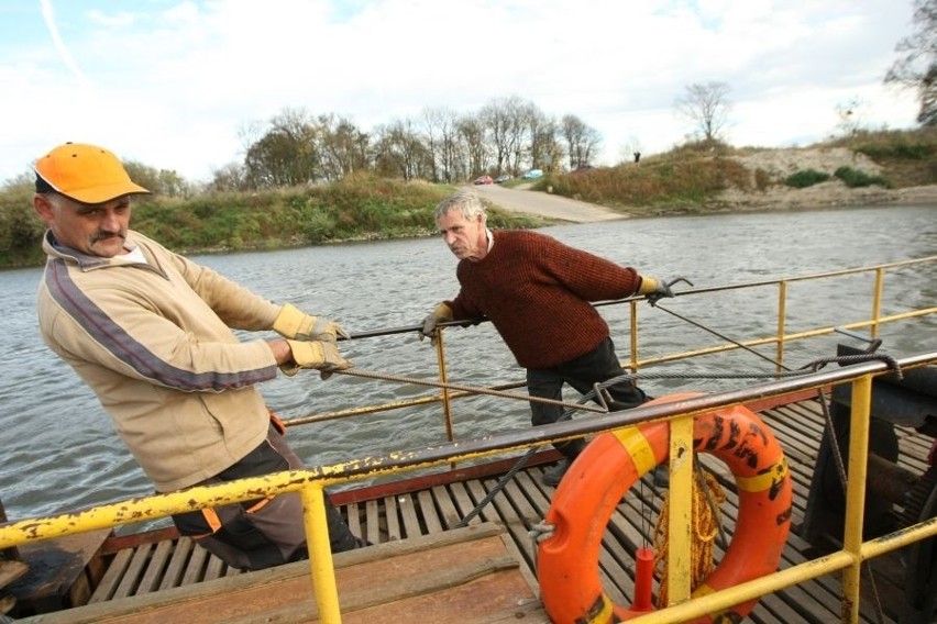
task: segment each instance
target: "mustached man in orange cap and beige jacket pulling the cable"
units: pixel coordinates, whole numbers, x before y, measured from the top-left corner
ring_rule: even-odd
[[[170,492],[302,466],[256,385],[352,366],[322,316],[277,305],[129,229],[148,193],[114,154],[66,143],[38,159],[33,205],[48,225],[37,296],[45,343],[97,393],[156,490]],[[232,330],[279,333],[241,342]],[[332,550],[364,545],[328,503]],[[232,567],[306,556],[299,495],[174,516]]]

